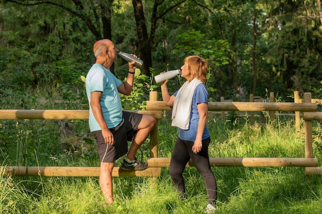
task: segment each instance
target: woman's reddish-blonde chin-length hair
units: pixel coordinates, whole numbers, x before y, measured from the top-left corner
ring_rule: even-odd
[[[190,70],[190,75],[187,78],[188,81],[196,78],[203,83],[206,82],[208,63],[203,57],[197,55],[187,56],[183,62],[188,64]]]

